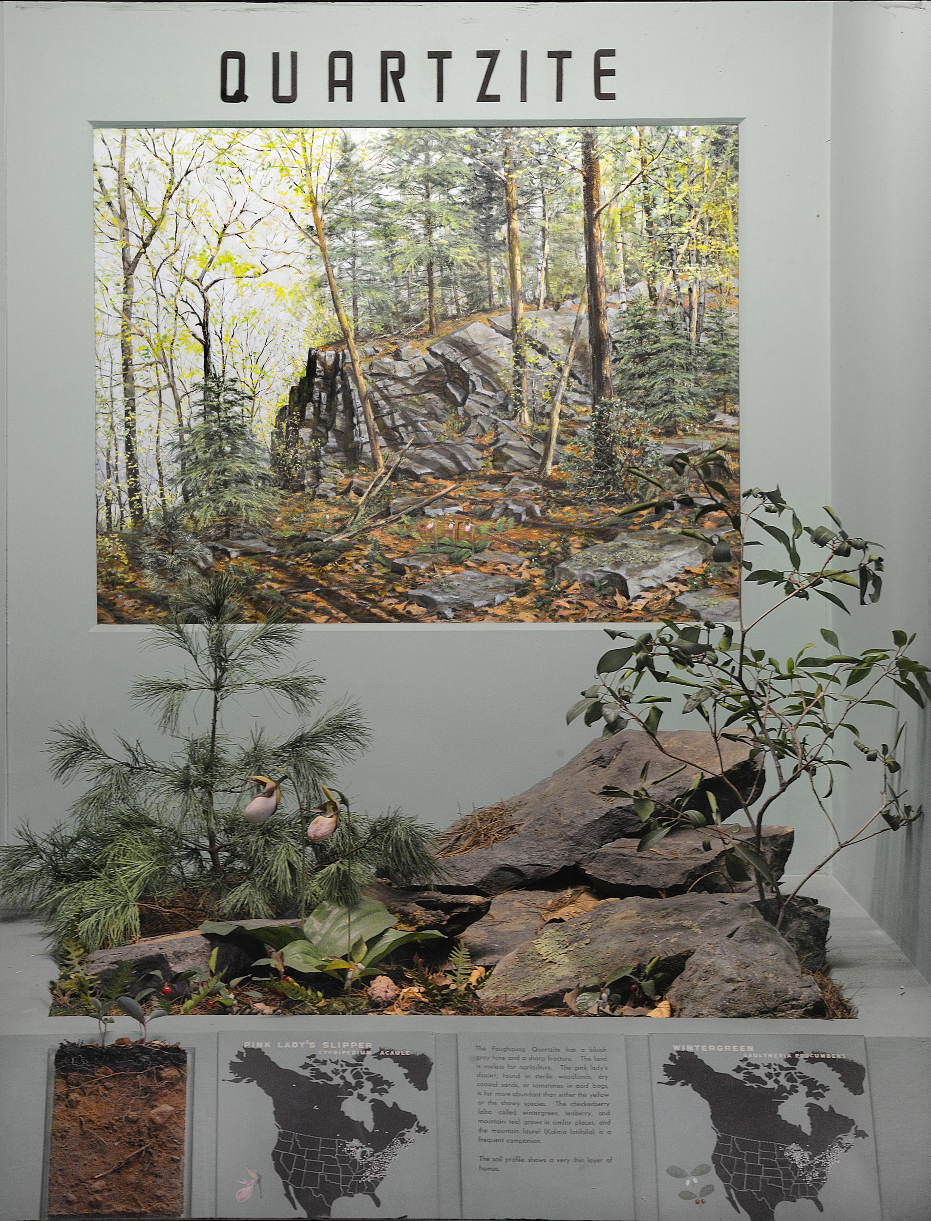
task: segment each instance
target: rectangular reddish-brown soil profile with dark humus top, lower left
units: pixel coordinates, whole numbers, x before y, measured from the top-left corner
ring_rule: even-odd
[[[186,1095],[187,1057],[177,1048],[62,1044],[49,1216],[180,1216]]]

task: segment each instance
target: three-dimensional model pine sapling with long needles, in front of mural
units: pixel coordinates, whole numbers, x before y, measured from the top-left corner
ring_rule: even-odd
[[[59,945],[72,924],[88,949],[136,938],[143,906],[180,896],[215,915],[271,918],[323,901],[353,904],[375,874],[436,875],[428,828],[398,811],[373,818],[346,811],[336,834],[308,842],[323,785],[362,752],[369,731],[348,701],[305,720],[323,680],[280,669],[298,629],[275,618],[244,626],[235,578],[214,574],[186,586],[154,629],[153,645],[186,657],[180,673],[139,679],[132,689],[173,742],[166,758],[120,736],[111,753],[83,722],[53,730],[53,774],[89,788],[71,824],[45,835],[23,825],[18,842],[0,849],[0,897],[32,908]],[[227,701],[260,694],[290,706],[299,723],[280,737],[261,729],[244,740],[227,736]],[[259,824],[243,817],[254,774],[282,785],[279,810]]]

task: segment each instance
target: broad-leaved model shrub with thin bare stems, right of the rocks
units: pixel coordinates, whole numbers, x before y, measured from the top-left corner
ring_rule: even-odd
[[[723,844],[726,867],[733,879],[755,875],[761,899],[766,899],[769,890],[776,900],[778,924],[788,902],[838,852],[908,827],[920,817],[921,808],[907,802],[900,780],[904,726],[874,741],[870,734],[860,731],[858,723],[872,708],[888,709],[897,720],[898,712],[891,702],[896,692],[924,708],[931,698],[929,669],[909,654],[915,637],[900,630],[892,632],[891,643],[856,653],[843,652],[838,636],[827,628],[821,629],[822,647],[806,643],[784,661],[759,647],[770,617],[783,607],[821,597],[849,613],[843,595],[850,589],[859,593],[861,606],[877,602],[883,568],[877,545],[852,537],[827,507],[827,523],[803,525],[778,488],[765,492],[754,487],[743,493],[743,507],[738,505],[721,477],[727,473],[720,448],[700,457],[676,454],[667,463],[679,477],[690,469],[704,488],[706,503],[695,513],[696,525],[709,514],[725,513],[734,546],[737,538],[743,538],[744,581],[772,586],[777,597],[749,621],[742,609],[737,628],[727,623],[683,626],[667,620],[661,628],[639,635],[608,630],[617,645],[599,661],[596,681],[582,692],[567,720],[582,716],[589,725],[602,722],[605,735],[628,725],[649,734],[668,759],[665,775],[650,775],[644,769],[640,786],[633,792],[605,789],[632,800],[643,823],[640,850],[649,850],[678,827],[704,829],[703,846],[710,850],[712,839]],[[626,512],[652,507],[662,514],[679,502],[695,503],[692,496],[660,493]],[[683,532],[698,535],[698,530]],[[779,548],[783,567],[764,568],[745,558],[747,548],[764,542]],[[809,552],[805,559],[803,549]],[[715,559],[729,558],[731,542],[726,536],[715,536]],[[721,764],[720,775],[699,768],[689,794],[674,805],[655,797],[654,789],[661,779],[695,767],[676,753],[674,740],[660,734],[665,706],[677,701],[667,691],[678,692],[685,717],[704,723],[718,745],[718,757],[721,744],[728,740],[750,746],[751,757],[766,767],[767,781],[761,796],[759,791],[742,792]],[[882,741],[882,736],[888,740]],[[843,757],[844,742],[855,747],[878,773],[875,806],[853,833],[841,829],[828,805],[837,769],[850,767]],[[738,811],[753,828],[749,840],[738,839],[738,828],[728,827],[721,818],[714,794],[704,783],[712,774],[717,783],[728,786]],[[764,856],[764,823],[772,806],[799,788],[812,795],[827,819],[833,842],[792,894],[783,895]]]

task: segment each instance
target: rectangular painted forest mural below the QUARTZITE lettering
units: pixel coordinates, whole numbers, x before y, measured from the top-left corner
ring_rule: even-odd
[[[99,621],[217,569],[257,620],[734,618],[673,455],[738,486],[737,167],[732,126],[98,129]]]

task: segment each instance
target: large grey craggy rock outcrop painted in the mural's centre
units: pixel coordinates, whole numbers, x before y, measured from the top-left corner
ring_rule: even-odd
[[[637,295],[639,286],[628,289]],[[610,311],[619,303],[610,303]],[[527,310],[528,370],[534,396],[553,385],[562,370],[575,322],[575,309]],[[522,474],[535,471],[541,452],[517,431],[511,414],[513,344],[509,314],[472,317],[448,335],[419,343],[371,343],[360,352],[380,443],[411,449],[398,466],[407,479],[452,477],[480,469]],[[588,404],[590,363],[583,327],[569,383],[563,397],[560,441],[575,433],[574,407]],[[450,436],[451,415],[457,435]],[[276,418],[272,468],[280,486],[304,491],[323,486],[332,495],[327,462],[356,464],[370,458],[362,404],[347,355],[341,349],[312,348],[303,377]]]

